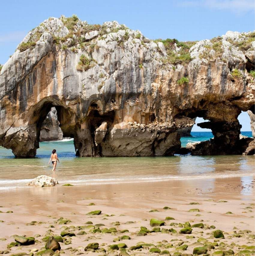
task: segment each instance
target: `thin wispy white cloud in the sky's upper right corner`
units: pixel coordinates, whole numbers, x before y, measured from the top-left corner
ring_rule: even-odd
[[[215,10],[231,11],[237,14],[254,11],[254,0],[193,0],[181,1],[182,6],[202,6]]]

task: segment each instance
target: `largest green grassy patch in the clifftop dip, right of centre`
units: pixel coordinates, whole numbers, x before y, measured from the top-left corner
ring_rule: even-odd
[[[196,44],[197,41],[187,41],[187,42],[179,42],[177,39],[157,39],[154,40],[155,43],[162,42],[165,46],[167,52],[167,58],[162,59],[162,62],[171,63],[171,64],[182,64],[189,63],[192,58],[190,57],[189,50],[190,48]],[[178,52],[176,52],[176,47],[180,48]]]

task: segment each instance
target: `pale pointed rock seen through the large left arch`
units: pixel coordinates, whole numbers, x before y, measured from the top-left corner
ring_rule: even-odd
[[[62,140],[63,133],[59,127],[57,110],[55,107],[50,109],[41,126],[40,141]]]

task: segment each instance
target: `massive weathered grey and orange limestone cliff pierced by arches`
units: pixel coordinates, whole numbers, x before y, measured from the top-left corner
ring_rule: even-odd
[[[237,117],[254,108],[254,47],[253,32],[154,42],[116,21],[49,18],[1,69],[0,144],[35,156],[54,106],[79,156],[173,155],[197,116],[220,147],[209,154],[236,153]]]

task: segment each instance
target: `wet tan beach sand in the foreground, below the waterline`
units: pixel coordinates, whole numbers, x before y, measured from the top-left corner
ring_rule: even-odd
[[[217,241],[219,246],[208,250],[207,253],[210,255],[214,251],[229,249],[238,253],[244,250],[240,248],[241,245],[254,245],[254,236],[251,236],[254,235],[254,176],[141,184],[19,188],[1,192],[0,202],[0,210],[3,212],[0,213],[0,220],[4,221],[0,222],[0,252],[8,250],[10,255],[20,252],[29,254],[31,249],[41,251],[45,246],[45,242],[42,241],[43,237],[49,234],[60,235],[64,230],[63,226],[69,227],[69,231],[76,235],[70,238],[65,236],[66,242],[60,243],[61,251],[63,250],[66,255],[82,253],[119,255],[119,250],[109,249],[109,245],[119,243],[127,245],[126,251],[129,255],[158,255],[158,253],[149,252],[153,247],[160,248],[161,251],[167,250],[171,255],[177,251],[182,254],[192,254],[193,248],[196,247],[191,245],[192,243],[197,242],[200,237],[214,242],[212,232],[218,229],[223,231],[225,239],[220,238]],[[191,205],[191,202],[199,204]],[[95,205],[88,206],[90,203]],[[164,210],[165,206],[171,209]],[[199,212],[189,212],[192,208],[198,208]],[[86,215],[95,210],[101,210],[102,213],[93,216]],[[150,210],[158,211],[150,212]],[[13,213],[6,213],[7,211],[13,211]],[[232,214],[226,214],[229,211]],[[162,228],[167,230],[147,233],[146,236],[137,235],[141,226],[152,230],[151,218],[165,220],[167,216],[175,219],[165,221],[165,225],[161,226],[161,231]],[[71,222],[59,224],[60,217]],[[36,221],[35,225],[28,225],[32,221]],[[93,222],[93,225],[104,224],[105,226],[99,227],[101,230],[115,227],[117,231],[98,233],[93,229],[80,228],[80,226],[85,226],[87,221]],[[128,221],[133,223],[125,224]],[[178,224],[184,224],[186,221],[189,221],[191,225],[203,223],[204,228],[194,227],[191,234],[180,234],[179,230],[182,227]],[[170,226],[171,223],[177,223],[177,225]],[[209,229],[211,225],[216,228]],[[170,232],[171,228],[177,233]],[[128,231],[120,232],[125,229]],[[86,234],[77,235],[82,230]],[[38,241],[34,245],[14,246],[7,249],[7,245],[14,242],[11,236],[15,234],[26,236],[38,234],[40,236],[35,237]],[[130,236],[131,239],[113,242],[113,239],[118,240],[118,237],[123,235]],[[194,236],[194,238],[187,238],[187,236]],[[155,246],[143,246],[138,250],[130,250],[131,246],[141,241],[152,243]],[[99,248],[104,248],[106,253],[84,251],[85,246],[92,242],[98,242]],[[226,245],[220,245],[220,242]],[[187,250],[182,251],[177,248],[182,243],[188,245]],[[55,255],[58,255],[58,252]]]

